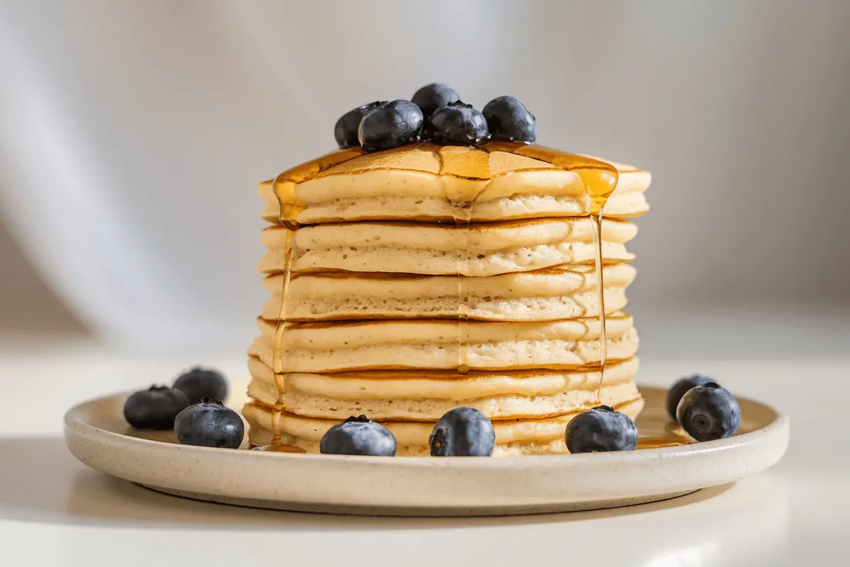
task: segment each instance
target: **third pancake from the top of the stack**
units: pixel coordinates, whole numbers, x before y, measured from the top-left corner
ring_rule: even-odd
[[[605,266],[607,315],[626,307],[626,287],[636,270],[629,264]],[[263,319],[280,315],[284,276],[263,285],[272,296]],[[286,320],[456,319],[458,297],[473,320],[560,320],[598,317],[596,270],[590,266],[462,278],[456,275],[365,273],[303,274],[289,281]]]

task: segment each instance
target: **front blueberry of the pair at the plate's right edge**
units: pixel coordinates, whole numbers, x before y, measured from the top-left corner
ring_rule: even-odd
[[[711,441],[738,431],[741,409],[728,390],[710,382],[695,386],[682,396],[676,417],[691,437]]]

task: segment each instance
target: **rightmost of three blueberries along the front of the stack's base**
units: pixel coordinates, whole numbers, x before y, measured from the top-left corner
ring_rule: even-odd
[[[638,446],[638,428],[625,413],[599,405],[567,423],[566,441],[570,453],[633,451]]]

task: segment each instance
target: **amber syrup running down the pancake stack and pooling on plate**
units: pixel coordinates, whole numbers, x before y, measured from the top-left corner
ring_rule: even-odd
[[[440,173],[451,179],[446,184],[445,198],[450,201],[452,217],[455,228],[462,237],[459,239],[464,246],[458,247],[456,251],[457,267],[457,366],[459,373],[469,371],[469,357],[467,353],[467,328],[469,324],[470,306],[468,304],[468,293],[465,287],[467,278],[473,276],[473,266],[470,261],[470,225],[473,223],[474,207],[479,196],[490,182],[490,169],[487,154],[494,151],[505,151],[518,156],[526,156],[547,162],[565,171],[573,172],[584,185],[589,199],[588,220],[593,226],[593,239],[595,247],[594,268],[597,277],[597,290],[599,301],[599,361],[588,370],[598,370],[599,379],[595,388],[597,404],[601,403],[602,387],[604,383],[604,371],[607,363],[607,337],[606,337],[606,314],[604,303],[604,275],[602,256],[602,234],[603,234],[603,209],[609,196],[615,190],[618,173],[615,167],[605,162],[599,162],[585,156],[579,156],[553,150],[538,145],[527,145],[519,142],[489,142],[482,149],[470,149],[462,146],[435,146],[438,148]],[[326,156],[321,156],[310,162],[305,162],[297,167],[281,173],[274,182],[275,196],[279,205],[278,222],[287,230],[286,252],[284,273],[280,292],[280,315],[275,328],[274,345],[274,371],[275,381],[278,384],[286,382],[284,361],[281,359],[285,346],[286,327],[289,323],[287,318],[287,303],[289,303],[289,282],[292,276],[292,255],[294,253],[295,233],[300,228],[298,214],[303,211],[303,201],[297,196],[297,184],[313,179],[317,174],[334,167],[343,162],[348,162],[355,157],[363,156],[365,152],[360,148],[340,150]],[[462,156],[459,158],[458,156]],[[510,173],[507,173],[508,175]],[[282,387],[279,394],[283,394]],[[266,451],[297,452],[297,448],[282,445],[280,435],[280,416],[284,408],[280,404],[275,405],[273,413],[273,439],[272,445],[261,448]],[[652,448],[660,446],[680,445],[686,439],[671,434],[649,436],[638,441],[638,448]],[[296,451],[291,451],[295,449]]]

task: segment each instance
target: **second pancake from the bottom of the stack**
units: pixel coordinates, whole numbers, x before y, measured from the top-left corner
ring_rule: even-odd
[[[249,360],[248,393],[263,405],[280,404],[303,417],[345,419],[365,414],[382,421],[435,422],[458,405],[490,419],[556,417],[598,402],[598,371],[363,371],[281,374]],[[638,359],[607,366],[601,395],[617,403],[638,397]]]

